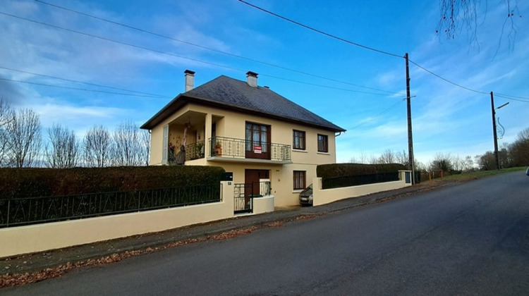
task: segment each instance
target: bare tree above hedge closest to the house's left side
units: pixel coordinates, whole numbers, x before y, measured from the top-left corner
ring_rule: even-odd
[[[140,166],[143,164],[140,128],[127,122],[121,123],[114,130],[112,164],[114,166]]]

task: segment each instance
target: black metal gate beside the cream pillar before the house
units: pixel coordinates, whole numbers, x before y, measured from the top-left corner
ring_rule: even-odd
[[[233,194],[233,212],[253,213],[254,197],[262,197],[270,194],[270,181],[261,181],[255,183],[238,183],[235,184]]]

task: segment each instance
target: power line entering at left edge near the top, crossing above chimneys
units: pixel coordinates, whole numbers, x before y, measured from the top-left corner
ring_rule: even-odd
[[[186,57],[186,56],[181,56],[181,55],[178,55],[178,54],[172,54],[172,53],[169,53],[169,52],[166,52],[166,51],[159,51],[157,49],[150,49],[148,47],[142,47],[142,46],[139,46],[139,45],[135,45],[135,44],[130,44],[130,43],[126,43],[126,42],[121,42],[121,41],[117,41],[117,40],[114,40],[114,39],[110,39],[110,38],[107,38],[107,37],[101,37],[101,36],[97,36],[97,35],[92,35],[92,34],[89,34],[89,33],[85,33],[85,32],[80,32],[80,31],[77,31],[77,30],[72,30],[72,29],[68,29],[68,28],[65,28],[65,27],[59,27],[57,25],[51,25],[49,23],[44,23],[44,22],[40,22],[38,20],[31,20],[29,18],[23,18],[21,16],[14,16],[12,14],[9,14],[9,13],[4,13],[4,12],[1,12],[0,11],[0,14],[4,15],[4,16],[11,16],[13,18],[18,18],[18,19],[21,19],[21,20],[26,20],[28,22],[31,22],[31,23],[37,23],[39,25],[45,25],[45,26],[48,26],[48,27],[53,27],[55,29],[59,29],[59,30],[65,30],[67,32],[73,32],[75,34],[79,34],[79,35],[85,35],[85,36],[88,36],[88,37],[92,37],[92,38],[96,38],[96,39],[102,39],[104,41],[107,41],[107,42],[114,42],[114,43],[117,43],[117,44],[121,44],[121,45],[126,45],[128,47],[134,47],[134,48],[138,48],[138,49],[143,49],[143,50],[146,50],[146,51],[152,51],[152,52],[155,52],[157,54],[165,54],[165,55],[168,55],[168,56],[174,56],[174,57],[177,57],[177,58],[183,58],[183,59],[186,59],[186,60],[190,60],[190,61],[196,61],[196,62],[199,62],[199,63],[205,63],[205,64],[208,64],[208,65],[211,65],[211,66],[217,66],[217,67],[220,67],[220,68],[228,68],[228,69],[231,69],[231,70],[237,70],[237,71],[241,71],[241,72],[244,72],[245,70],[241,69],[241,68],[235,68],[235,67],[231,67],[231,66],[226,66],[226,65],[221,65],[221,64],[218,64],[218,63],[212,63],[212,62],[209,62],[209,61],[201,61],[197,58],[189,58],[189,57]],[[266,74],[261,74],[263,76],[267,76]],[[272,75],[270,75],[270,77],[272,77]],[[287,81],[291,81],[291,82],[298,82],[298,83],[303,83],[303,84],[308,84],[308,85],[311,85],[310,83],[308,82],[301,82],[301,81],[298,81],[298,80],[291,80],[291,79],[288,79],[288,78],[280,78],[280,77],[277,77],[277,76],[274,76],[274,78],[276,79],[281,79],[281,80],[287,80]],[[339,82],[338,80],[336,80],[336,82]],[[324,86],[324,85],[316,85],[316,84],[312,84],[312,85],[315,85],[315,86],[319,86],[319,87],[327,87],[327,88],[331,88],[331,89],[336,89],[336,90],[339,90],[339,88],[337,87],[328,87],[328,86]],[[364,88],[367,88],[367,89],[372,89],[370,87],[364,87]],[[372,90],[377,90],[377,89],[372,89]],[[351,92],[355,92],[354,90],[349,90]],[[380,92],[387,92],[389,94],[397,94],[396,92],[389,92],[389,91],[385,91],[385,90],[377,90],[377,91],[380,91]],[[358,92],[358,91],[357,91]]]

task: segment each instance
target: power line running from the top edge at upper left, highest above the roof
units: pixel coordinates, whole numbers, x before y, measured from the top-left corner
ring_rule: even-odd
[[[339,83],[343,83],[343,84],[346,84],[346,85],[352,85],[352,86],[355,86],[355,87],[361,87],[361,88],[365,88],[367,90],[376,90],[378,92],[387,92],[389,94],[395,94],[395,92],[389,92],[387,90],[379,90],[379,89],[376,89],[376,88],[373,88],[373,87],[367,87],[367,86],[364,86],[364,85],[356,85],[356,84],[351,83],[351,82],[346,82],[346,81],[342,81],[342,80],[336,80],[334,78],[328,78],[328,77],[325,77],[325,76],[322,76],[322,75],[315,75],[315,74],[312,74],[312,73],[307,73],[307,72],[304,72],[304,71],[301,71],[301,70],[292,69],[292,68],[286,68],[284,66],[279,66],[279,65],[276,65],[274,63],[269,63],[269,62],[266,62],[266,61],[259,61],[259,60],[256,60],[254,58],[248,58],[248,57],[241,56],[241,55],[238,55],[238,54],[232,54],[230,52],[221,51],[219,49],[212,49],[210,47],[205,47],[205,46],[200,45],[200,44],[195,44],[195,43],[188,42],[188,41],[185,41],[185,40],[176,39],[174,37],[169,37],[169,36],[166,36],[166,35],[162,35],[162,34],[159,34],[157,32],[148,31],[148,30],[142,29],[140,27],[133,27],[131,25],[126,25],[124,23],[118,23],[118,22],[116,22],[114,20],[109,20],[107,18],[101,18],[99,16],[92,16],[92,15],[90,15],[88,13],[83,13],[81,11],[75,11],[75,10],[73,10],[71,8],[66,8],[66,7],[63,7],[63,6],[56,5],[56,4],[50,4],[50,3],[42,1],[42,0],[35,0],[35,1],[37,1],[37,2],[39,2],[41,4],[45,4],[45,5],[53,6],[55,8],[62,9],[64,11],[69,11],[71,13],[77,13],[77,14],[79,14],[81,16],[87,16],[89,18],[95,18],[96,20],[102,20],[104,22],[111,23],[111,24],[114,24],[114,25],[118,25],[118,26],[121,26],[121,27],[126,27],[126,28],[131,29],[131,30],[136,30],[136,31],[143,32],[143,33],[150,34],[150,35],[154,35],[154,36],[157,36],[157,37],[162,37],[164,39],[169,39],[171,41],[180,42],[180,43],[183,43],[183,44],[188,44],[188,45],[193,46],[193,47],[198,47],[198,48],[201,48],[201,49],[214,51],[214,52],[217,52],[219,54],[225,54],[227,56],[233,56],[235,58],[242,58],[242,59],[244,59],[246,61],[252,61],[252,62],[255,62],[255,63],[261,63],[261,64],[266,65],[266,66],[271,66],[271,67],[279,68],[279,69],[282,69],[282,70],[288,70],[288,71],[291,71],[291,72],[294,72],[294,73],[308,75],[308,76],[311,76],[311,77],[314,77],[314,78],[320,78],[320,79],[329,80],[329,81],[332,81],[332,82],[339,82]]]

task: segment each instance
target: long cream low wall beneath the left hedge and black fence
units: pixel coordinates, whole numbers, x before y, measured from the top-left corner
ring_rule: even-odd
[[[0,258],[232,218],[232,182],[221,182],[221,196],[212,204],[1,228]]]

